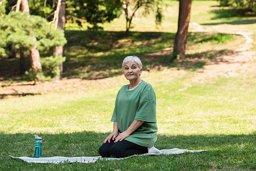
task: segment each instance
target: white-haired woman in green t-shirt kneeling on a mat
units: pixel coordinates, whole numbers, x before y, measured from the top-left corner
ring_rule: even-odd
[[[102,157],[160,153],[153,145],[157,140],[156,95],[150,83],[140,79],[142,63],[137,56],[123,60],[123,86],[116,97],[111,118],[113,132],[99,148]]]

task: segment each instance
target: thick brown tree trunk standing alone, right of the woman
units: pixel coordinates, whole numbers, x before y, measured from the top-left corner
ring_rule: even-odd
[[[174,42],[174,55],[185,59],[187,31],[190,18],[191,0],[180,0],[178,31]]]

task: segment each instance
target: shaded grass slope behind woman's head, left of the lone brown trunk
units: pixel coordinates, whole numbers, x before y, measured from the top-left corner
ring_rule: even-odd
[[[151,61],[145,53],[157,52],[173,46],[175,33],[163,32],[77,31],[67,30],[66,76],[102,74],[103,71],[121,69],[122,60],[129,55],[137,55],[143,65]],[[74,52],[75,51],[75,52]],[[152,63],[151,63],[152,64]],[[114,71],[116,72],[116,71]]]

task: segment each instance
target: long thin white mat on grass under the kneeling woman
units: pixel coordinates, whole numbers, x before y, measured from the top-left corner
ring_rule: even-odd
[[[155,154],[155,153],[146,153],[143,155],[135,155],[135,156],[146,156],[146,155],[173,155],[173,154],[182,154],[182,153],[194,153],[194,152],[204,152],[207,150],[188,150],[188,149],[179,149],[179,148],[172,148],[172,149],[161,149],[160,154]],[[79,163],[94,163],[98,159],[105,159],[105,160],[121,160],[125,158],[130,158],[130,157],[125,157],[125,158],[102,158],[100,156],[97,157],[41,157],[41,158],[31,158],[31,157],[13,157],[10,156],[13,159],[20,159],[29,163],[61,163],[61,162],[79,162]]]

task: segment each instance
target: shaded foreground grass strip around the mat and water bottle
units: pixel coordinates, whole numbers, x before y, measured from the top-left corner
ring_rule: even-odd
[[[107,133],[76,132],[70,134],[37,134],[42,137],[42,156],[99,156],[98,148]],[[173,170],[202,170],[217,167],[238,169],[255,169],[255,138],[256,133],[241,135],[158,135],[155,147],[159,149],[207,149],[207,152],[183,155],[144,156],[120,161],[101,160],[91,164],[62,163],[62,164],[33,164],[8,158],[33,157],[34,135],[31,133],[5,134],[0,133],[0,169],[9,170],[62,170],[90,169],[98,170],[112,167],[108,170],[168,170],[172,165]],[[103,167],[103,168],[102,168]]]

